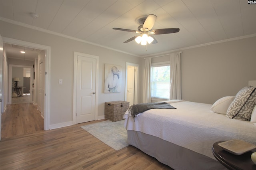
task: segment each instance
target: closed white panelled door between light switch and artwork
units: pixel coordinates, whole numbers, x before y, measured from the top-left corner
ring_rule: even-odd
[[[76,123],[94,121],[96,58],[77,55]]]

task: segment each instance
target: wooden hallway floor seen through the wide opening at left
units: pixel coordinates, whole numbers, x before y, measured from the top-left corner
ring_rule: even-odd
[[[32,103],[19,103],[6,106],[2,114],[2,138],[21,134],[32,134],[44,130],[44,119]]]

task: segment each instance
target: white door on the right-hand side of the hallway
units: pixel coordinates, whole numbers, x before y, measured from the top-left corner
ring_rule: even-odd
[[[44,117],[44,62],[39,61],[39,79],[38,79],[38,111]]]

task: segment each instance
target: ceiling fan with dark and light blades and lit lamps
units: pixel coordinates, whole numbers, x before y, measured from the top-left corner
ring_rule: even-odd
[[[129,40],[126,40],[124,43],[128,43],[132,40],[135,40],[137,43],[140,43],[141,45],[146,45],[147,43],[155,44],[157,43],[157,40],[152,36],[152,34],[170,34],[180,31],[180,28],[163,28],[151,30],[156,22],[156,15],[154,14],[149,14],[147,17],[139,18],[137,21],[139,24],[141,24],[140,26],[138,26],[138,31],[124,28],[113,28],[114,30],[134,32],[136,34],[139,34],[137,36],[130,38]]]

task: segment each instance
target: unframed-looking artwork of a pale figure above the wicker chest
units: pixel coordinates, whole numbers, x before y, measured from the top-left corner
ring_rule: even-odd
[[[105,64],[104,93],[120,93],[122,86],[122,67]]]

